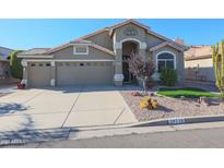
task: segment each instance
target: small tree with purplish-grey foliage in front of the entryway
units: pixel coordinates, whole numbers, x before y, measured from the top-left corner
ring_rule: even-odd
[[[143,57],[139,53],[132,52],[129,59],[129,71],[135,75],[137,77],[141,79],[143,82],[143,89],[146,94],[148,84],[152,82],[151,76],[155,71],[154,63],[151,59],[146,61],[143,60]]]

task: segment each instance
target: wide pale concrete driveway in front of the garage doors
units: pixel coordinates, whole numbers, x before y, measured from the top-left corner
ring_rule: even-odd
[[[116,87],[16,91],[0,97],[0,132],[137,122]]]

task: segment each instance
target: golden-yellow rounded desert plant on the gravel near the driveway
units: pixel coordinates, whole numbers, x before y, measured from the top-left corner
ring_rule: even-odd
[[[156,109],[158,107],[158,103],[156,99],[152,99],[150,96],[145,96],[143,99],[140,100],[140,108],[141,109]]]

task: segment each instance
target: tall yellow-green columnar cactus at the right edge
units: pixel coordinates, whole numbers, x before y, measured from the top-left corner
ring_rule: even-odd
[[[215,85],[221,92],[222,97],[224,97],[224,48],[223,40],[221,46],[219,43],[216,46],[212,46],[212,59],[215,72]],[[221,49],[221,51],[220,51]]]

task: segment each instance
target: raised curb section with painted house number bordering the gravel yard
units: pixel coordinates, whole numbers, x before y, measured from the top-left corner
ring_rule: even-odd
[[[224,115],[215,116],[197,116],[197,117],[177,117],[167,119],[157,119],[148,122],[141,122],[131,127],[156,127],[156,125],[177,125],[177,124],[190,124],[202,122],[221,122],[224,121]]]

